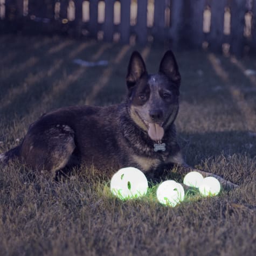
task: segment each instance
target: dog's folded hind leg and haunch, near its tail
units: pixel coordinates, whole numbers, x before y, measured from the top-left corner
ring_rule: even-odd
[[[39,131],[29,130],[20,147],[20,157],[33,169],[47,170],[54,175],[67,165],[74,149],[74,131],[58,124]]]

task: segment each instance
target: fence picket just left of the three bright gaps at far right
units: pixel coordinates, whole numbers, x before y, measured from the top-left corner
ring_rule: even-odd
[[[190,33],[188,39],[193,46],[201,48],[204,39],[203,13],[205,0],[186,1],[186,4],[190,4]]]

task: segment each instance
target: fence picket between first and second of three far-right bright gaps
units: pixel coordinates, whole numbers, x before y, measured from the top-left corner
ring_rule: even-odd
[[[213,51],[222,52],[225,7],[225,0],[211,1],[211,30],[209,33],[209,46]]]

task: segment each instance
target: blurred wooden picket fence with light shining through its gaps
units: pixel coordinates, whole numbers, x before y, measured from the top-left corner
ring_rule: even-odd
[[[256,0],[0,0],[0,33],[256,52]]]

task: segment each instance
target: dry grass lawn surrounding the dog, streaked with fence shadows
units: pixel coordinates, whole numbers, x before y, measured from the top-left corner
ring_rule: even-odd
[[[130,53],[156,72],[163,47],[130,47],[61,37],[1,36],[0,153],[53,108],[109,105],[126,94]],[[103,171],[81,168],[60,183],[17,163],[0,169],[2,255],[255,255],[256,69],[252,57],[177,52],[182,74],[176,121],[186,161],[239,184],[203,198],[186,193],[176,207],[111,195]],[[80,67],[79,58],[108,60]],[[170,177],[178,178],[175,174]]]

